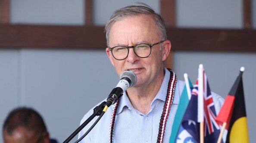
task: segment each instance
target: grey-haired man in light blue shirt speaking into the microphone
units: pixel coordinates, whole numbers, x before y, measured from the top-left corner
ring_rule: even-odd
[[[165,68],[171,50],[162,17],[149,6],[118,9],[105,27],[106,53],[117,74],[133,71],[137,83],[110,106],[81,143],[169,143],[184,82]],[[213,95],[216,111],[223,98]],[[91,116],[90,110],[81,124]],[[80,138],[97,118],[80,133]]]

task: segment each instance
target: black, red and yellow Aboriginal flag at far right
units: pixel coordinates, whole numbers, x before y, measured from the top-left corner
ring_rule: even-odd
[[[226,143],[249,143],[242,74],[240,71],[216,118],[227,123]]]

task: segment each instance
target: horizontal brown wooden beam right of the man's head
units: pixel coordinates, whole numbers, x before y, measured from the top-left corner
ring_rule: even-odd
[[[256,52],[256,30],[167,28],[174,51]]]

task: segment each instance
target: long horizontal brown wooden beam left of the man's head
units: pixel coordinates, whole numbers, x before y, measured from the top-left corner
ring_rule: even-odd
[[[0,24],[0,47],[106,48],[104,27]]]

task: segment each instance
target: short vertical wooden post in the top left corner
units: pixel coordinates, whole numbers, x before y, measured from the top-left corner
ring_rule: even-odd
[[[0,24],[9,24],[9,0],[0,0]]]

